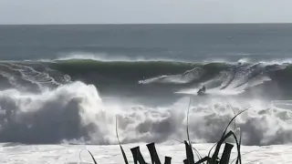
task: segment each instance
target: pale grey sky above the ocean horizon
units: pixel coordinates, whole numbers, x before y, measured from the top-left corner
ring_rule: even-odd
[[[284,22],[292,0],[0,0],[0,24]]]

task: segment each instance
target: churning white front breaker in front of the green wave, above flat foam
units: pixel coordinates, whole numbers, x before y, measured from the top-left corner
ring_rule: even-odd
[[[228,121],[250,106],[231,128],[240,128],[244,145],[285,144],[292,141],[291,110],[251,99],[192,100],[190,136],[194,142],[216,142]],[[186,138],[189,99],[150,108],[111,99],[104,101],[96,87],[73,82],[43,91],[0,91],[1,142],[116,144],[115,117],[122,143],[176,142]],[[289,107],[289,106],[287,106]]]

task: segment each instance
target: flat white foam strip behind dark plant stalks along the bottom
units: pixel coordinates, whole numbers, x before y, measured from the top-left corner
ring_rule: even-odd
[[[123,145],[128,161],[133,162],[130,152],[131,148],[140,146],[141,154],[146,162],[151,162],[149,151],[144,143]],[[201,156],[206,156],[213,144],[194,144]],[[172,157],[172,163],[183,163],[185,149],[183,144],[160,145],[156,144],[156,149],[164,162],[164,157]],[[89,150],[94,158],[100,164],[121,164],[123,159],[120,153],[120,147],[111,146],[68,146],[68,145],[16,145],[1,144],[0,162],[1,163],[56,163],[56,164],[89,164],[93,163],[89,157]],[[267,147],[242,147],[242,162],[250,164],[283,164],[291,163],[292,146],[279,145]],[[236,151],[233,149],[231,161],[236,158]],[[195,159],[197,161],[197,159]]]

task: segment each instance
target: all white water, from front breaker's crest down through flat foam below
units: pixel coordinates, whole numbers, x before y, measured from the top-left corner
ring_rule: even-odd
[[[144,158],[150,161],[145,146],[150,142],[157,143],[161,159],[170,156],[173,163],[182,163],[185,158],[180,141],[186,138],[188,97],[168,107],[148,108],[119,99],[104,100],[93,85],[72,82],[39,94],[7,89],[1,91],[0,99],[1,108],[15,109],[14,117],[1,123],[3,163],[90,163],[86,149],[99,163],[120,163],[116,117],[130,161],[130,148],[135,146],[141,146]],[[289,107],[291,102],[274,103]],[[236,119],[236,128],[243,132],[243,161],[291,162],[291,111],[266,107],[258,100],[243,103],[208,98],[205,103],[193,103],[189,116],[193,147],[206,155],[228,121],[248,105],[252,108]]]

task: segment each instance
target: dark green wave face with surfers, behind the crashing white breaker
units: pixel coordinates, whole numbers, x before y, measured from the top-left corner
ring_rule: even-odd
[[[94,84],[101,93],[173,93],[205,85],[207,89],[248,90],[275,83],[288,95],[289,63],[187,63],[174,61],[97,61],[68,59],[0,63],[2,88],[26,91],[53,88],[72,81]],[[37,88],[37,89],[36,89]],[[157,90],[158,89],[158,90]],[[130,90],[130,92],[128,92]],[[284,90],[283,90],[284,91]]]

